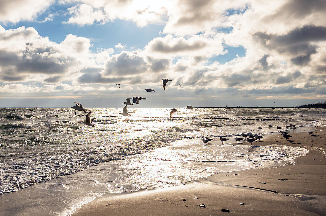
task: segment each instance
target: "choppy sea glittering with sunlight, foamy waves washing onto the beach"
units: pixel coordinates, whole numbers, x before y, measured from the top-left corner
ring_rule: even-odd
[[[116,108],[91,109],[95,127],[83,124],[85,114],[75,116],[70,108],[0,109],[0,211],[68,215],[103,193],[156,189],[218,172],[291,163],[307,150],[240,146],[234,136],[268,136],[278,131],[268,124],[307,126],[326,119],[324,110],[179,109],[173,116],[178,118],[170,120],[170,109],[128,109],[132,116],[119,116]],[[224,119],[204,119],[212,117]],[[256,117],[296,121],[241,120]],[[215,138],[211,146],[203,146],[206,136]],[[219,136],[230,140],[221,145]],[[20,196],[23,209],[7,205]],[[44,202],[48,204],[35,209]]]

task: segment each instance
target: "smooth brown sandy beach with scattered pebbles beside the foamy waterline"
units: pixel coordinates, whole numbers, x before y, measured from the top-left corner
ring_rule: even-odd
[[[312,135],[291,135],[291,139],[285,140],[281,134],[275,134],[253,145],[308,149],[308,155],[296,158],[295,164],[218,173],[158,190],[104,194],[73,215],[228,214],[222,209],[236,215],[325,215],[326,127],[316,127]]]

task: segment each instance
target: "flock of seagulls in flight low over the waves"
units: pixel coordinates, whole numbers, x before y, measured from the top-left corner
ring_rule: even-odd
[[[167,83],[168,82],[172,82],[172,80],[169,80],[169,79],[161,79],[161,80],[163,82],[163,88],[164,88],[164,90],[166,90]],[[116,85],[118,86],[118,88],[121,87],[121,85],[119,83],[117,83]],[[177,86],[178,85],[181,87],[180,84],[177,84]],[[150,93],[150,92],[156,92],[155,90],[150,89],[150,88],[146,88],[144,90],[147,91],[148,93]],[[131,103],[131,100],[132,100],[132,103]],[[146,100],[146,98],[139,97],[139,96],[135,96],[135,97],[132,97],[132,98],[126,98],[126,102],[122,103],[122,104],[125,104],[124,108],[122,108],[122,111],[123,112],[121,112],[119,114],[121,114],[123,116],[132,116],[131,114],[128,113],[127,106],[134,105],[134,104],[139,104],[139,101],[140,100]],[[86,108],[83,108],[81,103],[78,103],[78,102],[74,102],[74,103],[76,104],[76,106],[73,106],[71,108],[73,108],[73,109],[75,109],[77,111],[83,111],[83,112],[87,113],[88,110]],[[179,112],[179,111],[176,108],[171,109],[171,111],[170,111],[170,119],[172,118],[172,115],[175,112]],[[92,111],[90,111],[90,112],[88,112],[86,114],[86,121],[84,121],[84,124],[94,127],[94,124],[92,122],[96,118],[91,119],[91,113],[92,113]],[[209,143],[209,141],[208,141],[208,143]]]

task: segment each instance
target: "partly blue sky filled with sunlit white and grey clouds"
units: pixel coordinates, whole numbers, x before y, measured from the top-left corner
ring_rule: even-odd
[[[325,17],[325,0],[0,0],[0,107],[323,102]]]

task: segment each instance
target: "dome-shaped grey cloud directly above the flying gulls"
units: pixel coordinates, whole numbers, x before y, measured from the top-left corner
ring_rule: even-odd
[[[121,52],[112,57],[106,64],[107,75],[131,75],[146,71],[146,62],[137,52]]]

